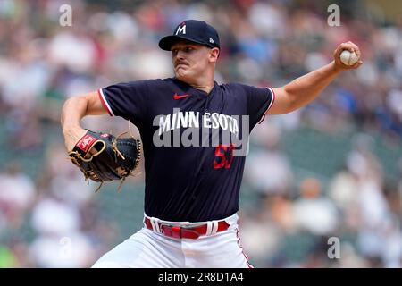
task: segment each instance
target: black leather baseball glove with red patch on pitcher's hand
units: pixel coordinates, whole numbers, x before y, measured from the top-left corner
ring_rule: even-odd
[[[101,182],[96,191],[102,187],[104,181],[121,180],[122,184],[138,166],[141,141],[120,138],[123,134],[114,137],[111,134],[87,130],[69,152],[72,163],[84,173],[87,182],[88,179]]]

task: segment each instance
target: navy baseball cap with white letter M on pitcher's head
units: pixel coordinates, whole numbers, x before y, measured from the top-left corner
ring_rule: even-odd
[[[174,29],[173,35],[166,36],[159,41],[159,47],[165,51],[170,51],[174,43],[183,39],[211,48],[221,47],[216,29],[205,21],[197,20],[181,22]]]

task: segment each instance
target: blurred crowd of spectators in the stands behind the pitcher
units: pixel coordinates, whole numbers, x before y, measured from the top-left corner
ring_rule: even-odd
[[[0,139],[0,267],[88,267],[113,247],[116,222],[60,152],[61,106],[115,82],[172,76],[171,56],[157,42],[185,19],[218,29],[218,82],[278,87],[329,63],[341,42],[360,46],[361,68],[341,74],[306,108],[253,130],[242,192],[258,199],[239,212],[240,234],[259,267],[401,267],[402,161],[394,158],[398,178],[389,181],[373,136],[400,147],[402,19],[354,1],[339,5],[341,25],[331,27],[327,5],[313,3],[0,0],[0,130],[7,134]],[[71,5],[71,26],[61,25],[63,4]],[[126,124],[85,119],[94,130]],[[305,126],[361,131],[344,168],[326,181],[297,180],[281,148],[283,137]],[[6,153],[13,162],[4,162]],[[42,158],[31,164],[38,172],[22,167],[27,153]],[[330,237],[340,241],[339,259],[328,257]]]

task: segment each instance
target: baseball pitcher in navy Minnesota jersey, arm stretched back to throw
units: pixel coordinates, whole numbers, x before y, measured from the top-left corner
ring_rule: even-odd
[[[303,107],[341,71],[358,68],[361,60],[347,65],[339,55],[348,50],[360,56],[359,48],[342,43],[333,61],[322,68],[283,87],[259,88],[214,81],[221,45],[217,31],[205,21],[181,22],[159,46],[172,55],[173,78],[117,83],[71,97],[63,105],[69,152],[80,149],[83,139],[90,143],[109,136],[84,130],[80,120],[86,115],[130,120],[142,141],[144,226],[93,267],[252,267],[241,247],[237,215],[248,133],[266,114]],[[112,146],[115,139],[109,141]],[[139,142],[132,145],[138,150]],[[88,160],[104,144],[95,151],[92,147],[85,145],[80,158]],[[125,161],[136,158],[137,154]],[[99,177],[105,167],[98,169]]]

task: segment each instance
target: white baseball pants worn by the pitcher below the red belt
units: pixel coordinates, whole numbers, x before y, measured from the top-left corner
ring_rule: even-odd
[[[154,222],[169,223],[150,219]],[[200,236],[195,240],[168,237],[157,232],[156,227],[155,231],[144,227],[100,257],[92,267],[252,268],[240,244],[238,215],[233,214],[225,221],[229,224],[226,231],[212,231],[209,235]],[[200,223],[179,224],[197,226]]]

